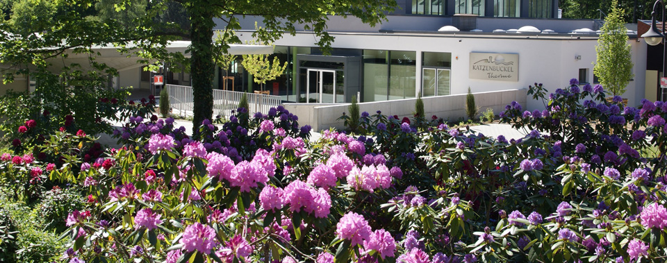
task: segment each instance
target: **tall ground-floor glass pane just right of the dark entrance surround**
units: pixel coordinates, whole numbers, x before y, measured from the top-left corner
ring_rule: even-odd
[[[363,100],[386,101],[389,71],[388,51],[363,51]]]

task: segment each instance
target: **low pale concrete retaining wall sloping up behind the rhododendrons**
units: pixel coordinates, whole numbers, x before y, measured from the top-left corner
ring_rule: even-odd
[[[487,108],[492,108],[495,114],[504,111],[505,105],[512,101],[517,101],[521,105],[526,105],[527,90],[500,90],[497,92],[479,92],[474,93],[475,104],[479,107],[479,112],[484,112]],[[424,101],[424,112],[427,119],[432,115],[438,118],[456,120],[466,117],[466,96],[467,94],[435,96],[422,98]],[[359,103],[361,112],[375,114],[381,110],[382,114],[398,115],[402,117],[412,117],[415,112],[415,101],[417,99],[401,99],[395,101],[376,101],[368,103]],[[343,121],[336,120],[340,116],[349,114],[347,107],[349,103],[324,105],[310,103],[285,103],[283,106],[299,117],[299,125],[310,125],[313,130],[328,130],[331,127],[345,128]]]

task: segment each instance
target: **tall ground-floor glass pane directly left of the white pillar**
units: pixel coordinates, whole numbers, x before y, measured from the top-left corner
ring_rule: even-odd
[[[415,51],[391,51],[389,67],[389,99],[415,98],[416,91]]]

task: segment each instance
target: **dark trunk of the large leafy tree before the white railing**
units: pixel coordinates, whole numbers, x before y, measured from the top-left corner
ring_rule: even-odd
[[[192,74],[192,98],[194,99],[192,133],[199,133],[199,126],[204,119],[213,117],[213,76],[215,63],[213,62],[213,14],[201,10],[201,6],[190,7],[190,21],[192,29],[192,59],[190,73]],[[199,9],[199,10],[197,10]],[[204,8],[205,9],[205,8]],[[192,15],[196,14],[196,15]]]

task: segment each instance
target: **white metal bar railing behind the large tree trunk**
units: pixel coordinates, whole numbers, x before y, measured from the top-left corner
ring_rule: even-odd
[[[169,93],[169,103],[172,113],[181,116],[192,115],[194,109],[192,87],[165,85],[165,88],[167,89],[167,93]],[[247,96],[250,114],[254,112],[268,114],[270,108],[281,104],[280,96],[213,90],[213,116],[231,116],[231,111],[236,110],[243,94]]]

